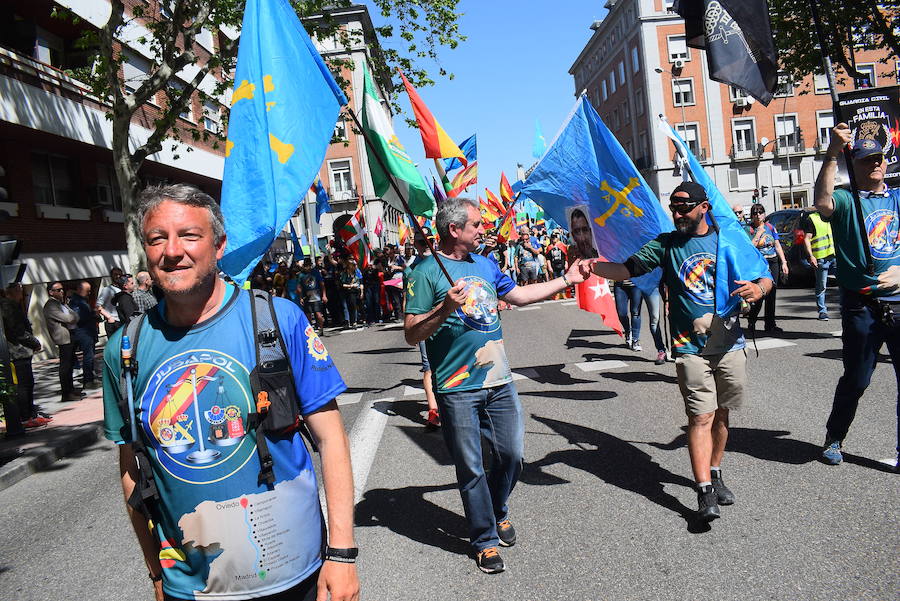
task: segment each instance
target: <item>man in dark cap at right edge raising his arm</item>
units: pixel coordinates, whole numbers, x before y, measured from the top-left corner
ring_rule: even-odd
[[[887,343],[895,373],[900,362],[900,190],[888,188],[884,182],[887,162],[881,145],[875,140],[856,140],[850,154],[868,238],[864,241],[853,195],[846,189],[834,189],[837,159],[850,141],[846,123],[831,130],[815,189],[819,215],[831,223],[841,286],[844,374],[834,391],[826,424],[822,461],[829,465],[843,461],[843,441],[872,379],[881,347]],[[864,242],[875,267],[871,274]],[[900,373],[897,375],[900,378]],[[900,393],[897,403],[900,409]],[[900,452],[900,425],[897,437]]]

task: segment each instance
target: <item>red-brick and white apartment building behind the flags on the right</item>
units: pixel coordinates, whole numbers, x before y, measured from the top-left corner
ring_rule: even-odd
[[[575,94],[586,91],[606,125],[664,204],[681,174],[658,115],[690,145],[732,203],[762,203],[767,211],[812,204],[815,177],[834,126],[824,74],[779,79],[768,107],[715,82],[703,51],[687,47],[684,22],[671,0],[609,0],[606,16],[569,69]],[[842,72],[839,90],[893,85],[894,60],[854,49],[868,82]]]

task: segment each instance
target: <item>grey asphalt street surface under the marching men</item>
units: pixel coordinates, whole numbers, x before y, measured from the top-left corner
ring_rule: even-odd
[[[339,402],[358,458],[362,599],[900,598],[886,357],[845,463],[816,461],[841,373],[831,301],[820,322],[810,291],[780,291],[784,333],[760,332],[758,356],[749,345],[723,462],[737,502],[710,527],[693,520],[674,365],[654,365],[646,315],[635,353],[571,302],[503,312],[526,457],[510,500],[519,541],[495,576],[468,556],[453,467],[424,428],[418,352],[396,326],[330,335],[350,387]],[[117,479],[115,448],[99,441],[0,490],[0,598],[152,599]]]

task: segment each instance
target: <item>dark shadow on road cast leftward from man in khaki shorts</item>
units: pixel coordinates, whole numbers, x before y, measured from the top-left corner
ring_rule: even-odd
[[[694,483],[691,480],[673,474],[653,461],[649,454],[611,434],[539,415],[532,414],[531,417],[579,448],[553,451],[543,459],[526,463],[522,471],[522,482],[533,486],[565,484],[568,480],[544,471],[546,466],[563,463],[593,474],[607,484],[641,495],[678,514],[687,524],[689,532],[710,530],[708,524],[696,520],[693,510],[663,488],[663,484],[675,484],[693,490]]]

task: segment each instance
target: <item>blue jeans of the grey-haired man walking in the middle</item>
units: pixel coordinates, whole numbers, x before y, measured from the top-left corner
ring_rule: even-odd
[[[441,432],[456,464],[456,480],[475,551],[496,547],[497,523],[509,513],[507,499],[519,474],[525,449],[525,424],[515,387],[437,394]],[[490,475],[485,475],[481,437],[491,446]]]

